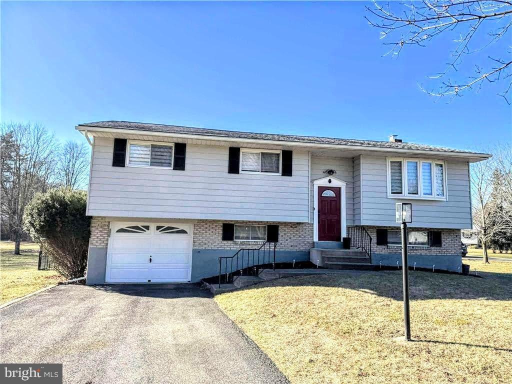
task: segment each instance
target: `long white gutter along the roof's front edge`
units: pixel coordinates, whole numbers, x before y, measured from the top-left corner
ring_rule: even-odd
[[[106,128],[96,126],[85,126],[76,125],[75,129],[78,131],[90,131],[90,132],[109,132],[109,133],[123,133],[123,134],[134,134],[134,135],[146,135],[146,136],[165,136],[165,137],[177,137],[182,139],[196,139],[196,140],[217,140],[217,141],[232,141],[232,142],[245,142],[245,143],[263,143],[273,145],[286,145],[286,146],[301,146],[308,148],[324,148],[324,149],[337,149],[337,150],[355,150],[355,151],[377,151],[377,152],[398,152],[398,153],[412,153],[412,154],[424,154],[432,155],[439,154],[450,157],[462,157],[462,158],[476,158],[480,160],[488,159],[491,155],[481,153],[466,153],[466,152],[446,152],[446,151],[427,151],[427,150],[408,150],[402,148],[386,148],[379,146],[361,146],[361,145],[349,145],[349,144],[323,144],[323,143],[306,143],[300,141],[283,141],[283,140],[267,140],[267,139],[245,139],[240,137],[224,137],[224,136],[208,136],[208,135],[191,135],[184,133],[169,133],[169,132],[155,132],[155,131],[140,131],[130,130],[124,128]],[[93,135],[94,136],[94,135]]]

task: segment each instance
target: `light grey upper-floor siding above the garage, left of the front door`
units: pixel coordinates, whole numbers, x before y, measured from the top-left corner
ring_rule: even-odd
[[[113,167],[112,138],[93,147],[88,215],[308,221],[308,152],[293,176],[228,174],[228,147],[187,144],[185,170]]]

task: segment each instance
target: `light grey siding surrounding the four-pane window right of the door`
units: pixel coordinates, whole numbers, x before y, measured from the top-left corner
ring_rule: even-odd
[[[446,201],[389,199],[386,156],[361,157],[361,204],[363,225],[396,226],[395,204],[413,204],[414,227],[471,228],[471,203],[468,164],[446,161]]]

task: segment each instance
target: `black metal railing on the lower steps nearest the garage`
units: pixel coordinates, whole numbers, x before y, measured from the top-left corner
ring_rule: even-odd
[[[233,282],[233,276],[258,276],[259,267],[272,264],[275,271],[275,245],[266,241],[260,248],[240,248],[232,256],[219,258],[219,288]]]

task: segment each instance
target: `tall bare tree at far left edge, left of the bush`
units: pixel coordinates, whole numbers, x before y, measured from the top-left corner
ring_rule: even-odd
[[[45,191],[53,181],[56,142],[38,123],[3,123],[0,130],[0,208],[11,240],[15,241],[14,253],[19,254],[25,207],[37,192]]]

